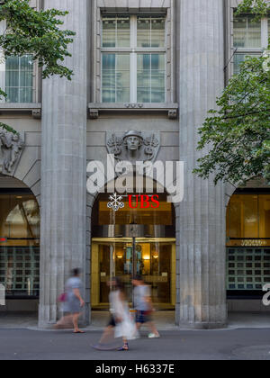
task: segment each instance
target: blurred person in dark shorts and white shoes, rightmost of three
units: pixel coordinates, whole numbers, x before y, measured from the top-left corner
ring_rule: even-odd
[[[160,338],[152,314],[155,311],[151,298],[150,287],[144,283],[140,275],[136,275],[132,281],[134,285],[134,304],[136,310],[136,325],[139,330],[142,325],[146,324],[150,333],[148,338]]]

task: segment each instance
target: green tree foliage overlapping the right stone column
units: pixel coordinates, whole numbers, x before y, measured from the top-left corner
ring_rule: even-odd
[[[251,7],[254,5],[253,7]],[[261,17],[269,11],[264,0],[244,0],[238,13]],[[247,58],[240,73],[217,100],[217,110],[199,130],[198,149],[206,151],[194,172],[202,178],[214,175],[215,184],[245,184],[263,176],[270,182],[270,58]]]

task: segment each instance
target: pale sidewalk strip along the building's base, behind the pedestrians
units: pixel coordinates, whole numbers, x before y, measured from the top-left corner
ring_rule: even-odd
[[[106,311],[96,311],[92,314],[92,324],[88,330],[99,331],[108,321]],[[179,330],[175,326],[175,312],[157,312],[155,315],[157,328],[161,331]],[[4,314],[0,313],[0,329],[38,329],[37,314]],[[183,329],[183,328],[181,328]],[[270,315],[265,313],[229,313],[228,329],[270,329]]]

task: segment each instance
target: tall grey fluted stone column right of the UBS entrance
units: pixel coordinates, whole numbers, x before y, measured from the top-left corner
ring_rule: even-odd
[[[179,324],[219,328],[227,321],[224,185],[193,175],[198,128],[224,88],[223,0],[177,1],[180,159],[184,202],[178,220]],[[204,151],[205,153],[205,151]]]

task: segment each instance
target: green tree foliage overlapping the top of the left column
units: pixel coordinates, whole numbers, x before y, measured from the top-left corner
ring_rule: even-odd
[[[34,10],[29,0],[2,1],[0,21],[6,20],[7,27],[0,35],[0,49],[5,57],[31,54],[42,67],[42,78],[58,75],[71,80],[73,72],[65,66],[64,60],[71,56],[68,45],[73,42],[75,32],[61,28],[62,17],[67,14],[57,9]],[[1,96],[6,94],[0,88]]]

